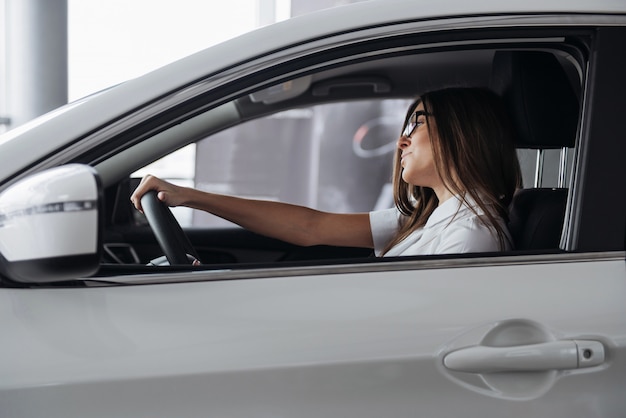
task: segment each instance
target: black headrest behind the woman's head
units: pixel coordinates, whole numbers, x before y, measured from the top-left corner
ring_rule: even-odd
[[[520,148],[573,147],[579,104],[558,59],[542,51],[498,51],[491,88],[509,106]]]

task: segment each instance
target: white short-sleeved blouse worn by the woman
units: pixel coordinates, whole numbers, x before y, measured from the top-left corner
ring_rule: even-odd
[[[478,215],[459,197],[452,197],[433,211],[426,225],[413,231],[385,256],[500,251],[496,231],[480,220],[484,212],[471,199],[468,199],[468,203]],[[377,256],[382,254],[387,243],[397,233],[403,216],[397,208],[370,212],[374,252]],[[508,234],[504,222],[502,227]],[[511,249],[511,239],[507,238],[507,248],[504,250]]]

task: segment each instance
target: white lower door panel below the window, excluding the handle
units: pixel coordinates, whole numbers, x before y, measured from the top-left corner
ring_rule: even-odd
[[[616,254],[549,264],[3,289],[0,309],[21,314],[19,322],[0,315],[0,355],[30,351],[3,363],[0,404],[29,417],[46,411],[65,418],[618,416],[626,392],[626,263]],[[211,272],[200,274],[210,279]],[[558,340],[599,341],[607,360],[541,379],[528,379],[528,372],[460,379],[444,366],[449,352],[506,321],[536,324]]]

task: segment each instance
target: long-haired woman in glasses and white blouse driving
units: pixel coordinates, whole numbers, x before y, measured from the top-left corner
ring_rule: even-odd
[[[453,88],[422,95],[409,108],[394,168],[396,208],[338,214],[241,199],[146,176],[131,196],[156,190],[169,206],[205,210],[293,244],[373,248],[398,256],[511,248],[507,208],[520,185],[513,134],[498,97]]]

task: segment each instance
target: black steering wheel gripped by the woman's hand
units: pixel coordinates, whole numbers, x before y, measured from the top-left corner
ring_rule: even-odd
[[[141,197],[141,207],[170,265],[193,264],[198,255],[172,211],[150,190]]]

